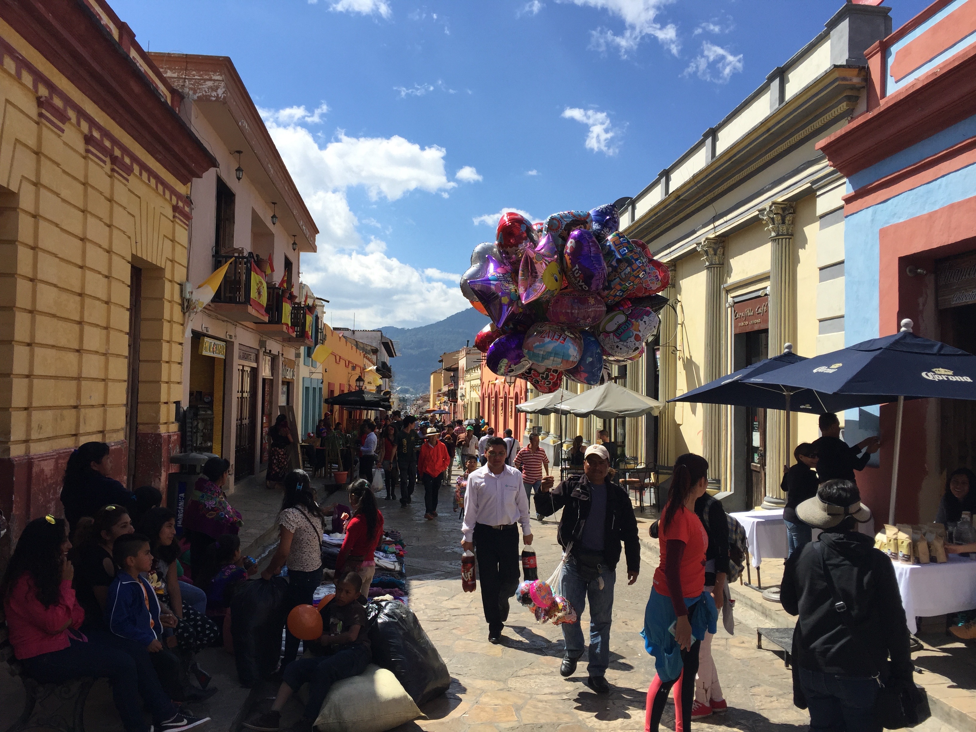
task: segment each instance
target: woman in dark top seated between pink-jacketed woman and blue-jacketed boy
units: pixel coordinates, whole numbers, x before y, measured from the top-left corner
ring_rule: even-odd
[[[109,505],[95,511],[94,517],[84,516],[74,532],[74,588],[78,603],[85,610],[83,632],[107,630],[105,627],[105,597],[108,586],[115,579],[112,547],[115,540],[135,529],[129,512],[121,506]]]

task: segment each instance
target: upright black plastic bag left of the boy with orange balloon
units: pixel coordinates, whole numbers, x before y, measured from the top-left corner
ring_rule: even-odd
[[[230,601],[234,663],[237,678],[245,688],[250,689],[278,665],[287,592],[288,582],[283,577],[252,580]]]

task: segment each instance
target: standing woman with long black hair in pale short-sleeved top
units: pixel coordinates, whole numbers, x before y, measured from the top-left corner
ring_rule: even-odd
[[[305,470],[292,470],[285,478],[285,495],[278,513],[280,539],[270,564],[261,573],[270,580],[288,564],[288,612],[296,605],[310,605],[315,588],[322,582],[322,534],[325,515],[315,500],[315,489]],[[285,634],[282,670],[298,657],[299,639],[291,630]]]

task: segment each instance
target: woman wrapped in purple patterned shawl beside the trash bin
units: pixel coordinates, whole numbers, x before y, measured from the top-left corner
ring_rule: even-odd
[[[230,463],[224,458],[210,458],[196,479],[183,510],[183,533],[189,539],[190,567],[193,573],[203,570],[204,553],[221,534],[236,534],[243,526],[241,514],[227,503],[224,483]]]

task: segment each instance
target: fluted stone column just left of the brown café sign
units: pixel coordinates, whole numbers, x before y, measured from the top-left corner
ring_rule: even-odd
[[[698,245],[705,260],[705,349],[702,356],[702,383],[722,375],[722,320],[725,317],[725,238],[707,236]],[[702,454],[709,461],[712,478],[722,474],[722,413],[720,404],[703,404]]]

